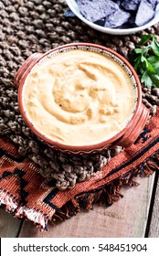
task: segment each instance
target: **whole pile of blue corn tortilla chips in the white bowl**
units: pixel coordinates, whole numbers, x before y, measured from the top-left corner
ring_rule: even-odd
[[[76,0],[80,13],[102,27],[141,27],[155,15],[159,0]]]

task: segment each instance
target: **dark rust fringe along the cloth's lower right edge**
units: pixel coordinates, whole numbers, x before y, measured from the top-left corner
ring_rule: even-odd
[[[139,185],[133,180],[134,176],[150,176],[156,171],[159,171],[159,151],[147,158],[137,168],[132,169],[124,176],[118,177],[110,184],[73,197],[66,205],[56,210],[51,222],[56,223],[57,221],[69,219],[77,215],[82,208],[86,210],[92,209],[94,204],[105,205],[106,207],[111,206],[123,197],[120,193],[122,186],[134,187]]]

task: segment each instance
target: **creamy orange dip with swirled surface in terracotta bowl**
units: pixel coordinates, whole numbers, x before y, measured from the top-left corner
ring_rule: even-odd
[[[134,108],[132,80],[121,65],[94,51],[72,49],[37,65],[23,91],[26,114],[62,144],[96,144],[125,127]]]

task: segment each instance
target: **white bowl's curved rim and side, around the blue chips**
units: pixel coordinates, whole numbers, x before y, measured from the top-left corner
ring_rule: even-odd
[[[88,26],[99,30],[103,33],[111,34],[111,35],[128,35],[132,33],[136,33],[138,31],[144,30],[147,27],[152,27],[154,24],[159,22],[159,4],[156,7],[155,16],[151,19],[148,23],[141,27],[133,27],[133,28],[110,28],[110,27],[102,27],[97,24],[94,24],[87,20],[84,16],[80,14],[79,6],[77,5],[76,0],[66,0],[67,4],[69,5],[69,9],[80,18],[84,23]]]

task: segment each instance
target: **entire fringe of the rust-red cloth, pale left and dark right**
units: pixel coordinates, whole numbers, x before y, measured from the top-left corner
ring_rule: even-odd
[[[120,193],[122,186],[127,185],[132,187],[138,185],[138,183],[132,180],[134,176],[149,176],[158,170],[159,151],[138,165],[136,169],[132,169],[128,174],[120,176],[110,184],[73,197],[66,205],[55,211],[52,219],[48,219],[47,214],[38,211],[36,208],[19,206],[16,198],[2,189],[0,190],[0,206],[5,206],[5,210],[16,216],[16,218],[26,218],[32,221],[39,230],[46,231],[48,230],[48,220],[54,224],[59,220],[64,221],[77,215],[82,208],[87,210],[92,209],[95,203],[111,206],[111,204],[123,197]]]

